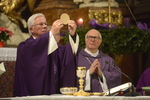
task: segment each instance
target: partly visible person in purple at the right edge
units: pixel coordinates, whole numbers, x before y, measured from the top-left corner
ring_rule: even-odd
[[[150,87],[150,68],[146,69],[143,74],[141,75],[137,86],[136,86],[136,91],[145,94],[144,91],[142,90],[142,87]]]

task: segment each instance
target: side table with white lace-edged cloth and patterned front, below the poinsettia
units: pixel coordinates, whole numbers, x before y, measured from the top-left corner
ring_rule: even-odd
[[[0,98],[13,96],[16,55],[17,48],[0,48],[0,63],[4,62],[6,70],[0,75]]]

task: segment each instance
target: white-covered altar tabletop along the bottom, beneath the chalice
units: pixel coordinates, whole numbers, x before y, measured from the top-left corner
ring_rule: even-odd
[[[26,97],[1,98],[5,100],[150,100],[150,96],[72,96],[72,95],[40,95]]]

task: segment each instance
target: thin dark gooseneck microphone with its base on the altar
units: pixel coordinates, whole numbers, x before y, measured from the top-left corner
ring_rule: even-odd
[[[105,61],[105,63],[110,65],[110,63],[108,61]],[[116,68],[116,67],[114,67],[112,65],[110,65],[110,66],[112,68],[114,68],[115,70],[117,70],[118,72],[120,72],[126,78],[128,78],[130,80],[130,82],[131,82],[131,91],[123,94],[123,96],[140,96],[141,95],[140,93],[134,91],[134,85],[133,85],[132,79],[128,75],[126,75],[125,73],[123,73],[122,71],[120,71],[118,68]]]

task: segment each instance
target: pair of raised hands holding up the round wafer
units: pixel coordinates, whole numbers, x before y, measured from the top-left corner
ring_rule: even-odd
[[[60,29],[63,26],[64,26],[63,22],[60,19],[58,19],[52,24],[52,28],[50,31],[53,33],[53,35],[55,35],[60,32]],[[70,35],[72,35],[72,36],[75,35],[76,28],[77,28],[77,25],[74,22],[74,20],[69,20],[68,21],[68,30],[69,30]]]

